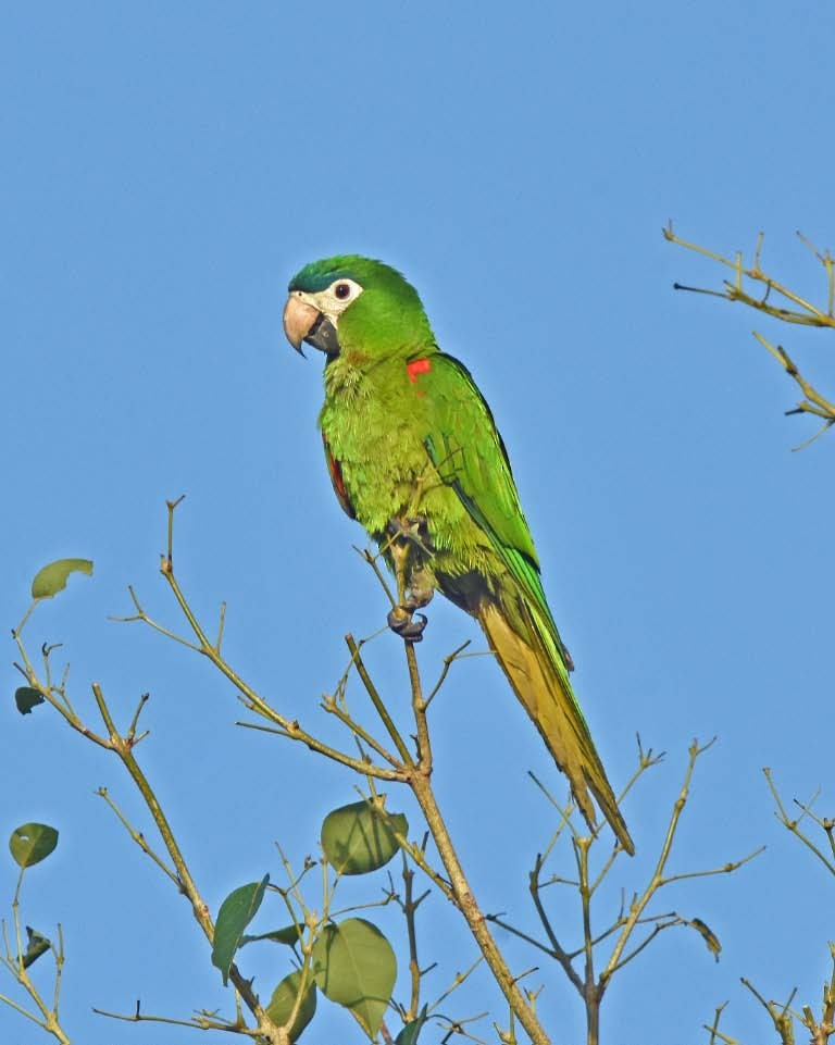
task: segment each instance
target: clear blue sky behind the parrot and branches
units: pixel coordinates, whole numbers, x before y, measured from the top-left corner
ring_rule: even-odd
[[[674,279],[722,273],[661,226],[727,252],[765,229],[764,263],[823,299],[794,234],[835,244],[833,28],[821,2],[756,15],[715,0],[3,8],[2,619],[17,622],[45,562],[95,560],[92,581],[39,608],[29,640],[64,642],[91,719],[94,680],[122,721],[152,694],[140,754],[213,909],[267,870],[279,879],[275,839],[297,862],[315,851],[354,782],[235,729],[235,694],[208,664],[107,618],[129,612],[133,583],[177,622],[157,565],[164,500],[186,493],[177,569],[196,608],[212,619],[226,599],[241,673],[335,735],[316,705],[345,667],[341,636],[373,632],[385,606],[324,470],[321,361],[292,353],[281,313],[302,264],[357,251],[407,273],[493,407],[613,782],[633,768],[636,732],[669,752],[625,805],[638,856],[612,903],[651,870],[694,736],[720,741],[698,767],[673,870],[768,845],[738,875],[660,900],[703,919],[722,960],[695,934],[662,936],[615,979],[603,1040],[699,1041],[730,999],[726,1032],[762,1041],[741,975],[817,1004],[831,883],[775,823],[761,767],[789,799],[820,785],[832,811],[835,444],[790,452],[812,423],[783,416],[795,389],[750,331],[782,339],[832,390],[826,335],[676,295]],[[473,622],[435,604],[427,676],[465,638],[484,648]],[[398,654],[383,636],[370,655],[395,704]],[[9,694],[13,657],[10,643]],[[485,908],[529,926],[526,870],[552,823],[526,770],[560,795],[564,781],[496,665],[459,668],[434,710],[438,792]],[[64,926],[74,1037],[188,1034],[114,1025],[92,1005],[228,1010],[187,906],[92,794],[107,785],[150,830],[115,760],[54,716],[0,713],[0,834],[26,820],[61,831],[25,904],[42,932]],[[406,797],[389,801],[418,833]],[[5,908],[12,892],[8,863]],[[576,941],[576,904],[560,904]],[[429,998],[472,960],[446,906],[434,895],[425,907],[427,960],[441,962]],[[396,931],[390,909],[379,919]],[[559,971],[509,954],[520,970],[539,963],[554,1042],[581,1042]],[[273,954],[252,960],[269,993],[285,970]],[[459,997],[456,1016],[500,1018],[482,973]],[[311,1041],[349,1033],[339,1012],[320,1019]],[[0,1008],[0,1036],[23,1033]],[[489,1038],[489,1021],[475,1033]]]

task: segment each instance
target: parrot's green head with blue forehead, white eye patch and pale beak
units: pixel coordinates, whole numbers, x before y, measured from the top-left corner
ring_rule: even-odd
[[[382,261],[359,254],[313,261],[288,290],[284,329],[299,352],[304,341],[328,358],[348,350],[382,359],[433,340],[418,291]]]

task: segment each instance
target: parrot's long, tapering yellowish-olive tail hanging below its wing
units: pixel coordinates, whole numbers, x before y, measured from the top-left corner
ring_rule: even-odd
[[[635,846],[618,808],[618,799],[595,750],[591,735],[571,687],[569,673],[556,647],[534,620],[533,645],[510,626],[501,607],[484,599],[476,612],[493,651],[514,693],[543,735],[554,761],[571,782],[571,789],[589,828],[594,829],[595,796],[618,841],[633,856]],[[541,636],[541,637],[540,637]]]

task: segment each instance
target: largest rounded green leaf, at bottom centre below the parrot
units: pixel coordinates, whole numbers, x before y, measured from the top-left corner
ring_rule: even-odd
[[[395,953],[377,926],[363,918],[325,925],[313,944],[313,975],[325,996],[350,1009],[374,1037],[397,979]]]

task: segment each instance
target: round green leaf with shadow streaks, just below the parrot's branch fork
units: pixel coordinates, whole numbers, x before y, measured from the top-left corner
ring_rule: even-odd
[[[322,848],[340,874],[367,874],[384,867],[399,849],[395,833],[406,836],[402,813],[356,801],[329,812],[322,824]]]

